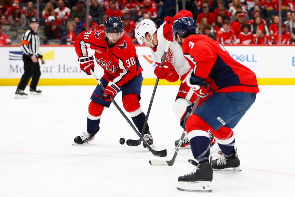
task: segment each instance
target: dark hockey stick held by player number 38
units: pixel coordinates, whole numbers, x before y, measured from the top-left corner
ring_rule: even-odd
[[[98,82],[98,85],[101,87],[102,90],[104,90],[104,85],[100,82],[100,80],[96,77],[96,75],[94,74],[93,70],[90,69],[90,73],[92,74],[92,76],[95,78],[95,80]],[[128,117],[125,115],[125,113],[122,111],[122,109],[119,107],[119,105],[116,103],[116,101],[110,97],[112,103],[114,103],[114,105],[116,106],[116,108],[120,111],[120,113],[123,115],[124,119],[129,123],[129,125],[132,127],[132,129],[135,131],[135,133],[140,137],[140,139],[143,141],[143,143],[148,147],[148,150],[151,151],[151,153],[155,156],[158,157],[166,157],[167,155],[167,150],[162,150],[162,151],[155,151],[153,150],[150,145],[144,140],[144,138],[140,135],[140,132],[136,130],[136,128],[134,127],[134,125],[130,122],[130,120],[128,119]]]

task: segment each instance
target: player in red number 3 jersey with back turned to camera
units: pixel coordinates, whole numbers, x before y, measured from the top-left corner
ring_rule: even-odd
[[[197,35],[196,29],[192,18],[179,18],[173,23],[173,39],[182,47],[184,57],[194,69],[187,78],[187,85],[199,96],[206,96],[210,86],[213,93],[192,115],[183,116],[195,158],[189,162],[195,169],[178,178],[177,189],[210,192],[212,169],[241,171],[232,128],[254,103],[259,89],[254,72],[236,62],[217,41],[206,35]],[[211,164],[209,129],[225,155],[225,158],[218,158]]]

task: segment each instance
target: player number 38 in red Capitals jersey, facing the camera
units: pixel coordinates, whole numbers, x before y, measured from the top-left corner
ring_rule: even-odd
[[[88,48],[95,50],[94,57],[88,54]],[[119,91],[122,91],[123,107],[141,132],[146,118],[139,103],[143,69],[132,40],[124,34],[120,17],[108,17],[104,22],[104,31],[80,33],[75,39],[75,50],[80,68],[86,74],[90,74],[90,69],[94,71],[94,61],[104,69],[100,81],[105,90],[102,91],[97,85],[93,91],[88,107],[87,132],[77,136],[73,145],[90,143],[94,139],[94,135],[100,129],[100,116],[104,107],[110,106],[110,97],[114,98]],[[144,139],[153,149],[155,148],[148,125]]]

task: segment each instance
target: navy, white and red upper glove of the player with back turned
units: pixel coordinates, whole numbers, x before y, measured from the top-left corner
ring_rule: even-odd
[[[187,85],[201,98],[208,96],[211,90],[210,84],[207,84],[204,80],[204,78],[196,77],[194,73],[191,73],[187,78]]]

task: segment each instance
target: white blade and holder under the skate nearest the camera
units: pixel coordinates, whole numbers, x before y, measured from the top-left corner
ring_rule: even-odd
[[[194,192],[211,192],[211,182],[210,181],[179,181],[177,183],[177,189],[180,191],[194,191]]]

